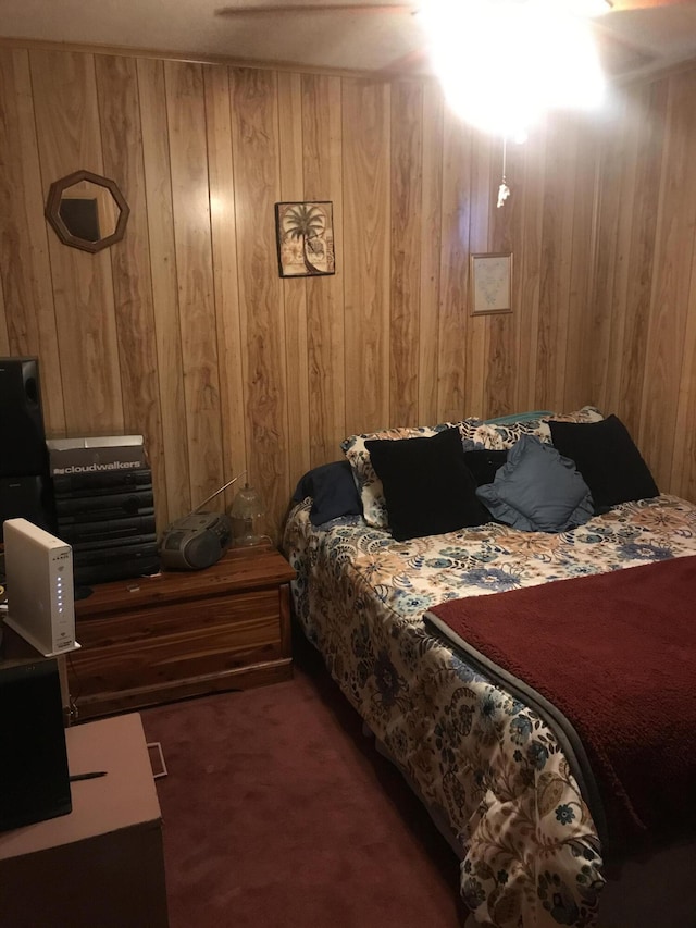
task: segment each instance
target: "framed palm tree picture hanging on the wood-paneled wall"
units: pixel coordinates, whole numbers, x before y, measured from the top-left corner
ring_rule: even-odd
[[[276,203],[275,231],[282,277],[335,273],[333,203]]]

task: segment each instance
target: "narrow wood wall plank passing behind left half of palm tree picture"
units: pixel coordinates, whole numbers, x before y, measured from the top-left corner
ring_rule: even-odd
[[[278,151],[281,199],[302,202],[302,78],[300,74],[278,74]],[[315,281],[285,277],[281,284],[285,311],[285,350],[287,356],[287,420],[293,442],[288,447],[291,474],[301,477],[310,468],[309,346],[307,339],[307,294]]]

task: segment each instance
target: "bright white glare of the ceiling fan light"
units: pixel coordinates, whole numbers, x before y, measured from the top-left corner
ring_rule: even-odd
[[[601,101],[587,21],[559,0],[426,0],[421,21],[449,106],[480,128],[512,137]]]

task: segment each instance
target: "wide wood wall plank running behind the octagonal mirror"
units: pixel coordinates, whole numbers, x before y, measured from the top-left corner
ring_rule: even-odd
[[[45,199],[50,184],[84,169],[103,174],[99,104],[91,54],[29,55]],[[121,434],[123,395],[108,250],[90,255],[49,236],[70,435]]]

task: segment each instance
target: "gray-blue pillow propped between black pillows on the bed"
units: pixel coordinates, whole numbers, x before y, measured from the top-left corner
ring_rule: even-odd
[[[533,435],[515,442],[493,483],[480,486],[476,496],[495,519],[525,532],[564,532],[594,515],[574,462]]]

